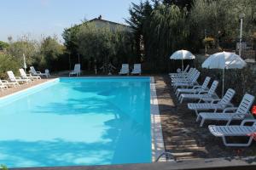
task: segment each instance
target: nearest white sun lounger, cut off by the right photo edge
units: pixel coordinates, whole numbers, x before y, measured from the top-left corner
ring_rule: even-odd
[[[246,126],[245,123],[253,122],[253,126]],[[221,137],[225,146],[249,146],[253,141],[253,133],[256,133],[256,120],[243,120],[241,125],[232,126],[208,126],[210,133],[216,137]],[[248,137],[247,143],[228,143],[226,137]]]

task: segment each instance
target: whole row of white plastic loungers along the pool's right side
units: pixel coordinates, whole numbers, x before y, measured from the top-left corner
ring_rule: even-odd
[[[175,73],[172,75],[172,81],[176,77],[181,75],[180,73]],[[169,74],[170,75],[170,74]],[[191,77],[193,76],[193,70],[190,68],[189,72],[181,77]],[[175,77],[175,78],[174,78]],[[180,79],[182,80],[182,79]],[[183,79],[183,80],[186,80]],[[199,103],[189,103],[188,108],[191,111],[195,111],[197,116],[196,122],[200,123],[200,127],[203,126],[206,121],[222,121],[227,122],[225,126],[209,125],[208,129],[216,137],[221,137],[223,139],[224,145],[226,146],[248,146],[252,143],[253,137],[256,136],[256,120],[250,113],[250,108],[253,105],[254,96],[251,94],[245,94],[241,103],[238,107],[234,107],[231,104],[231,99],[236,94],[235,90],[228,89],[226,94],[222,99],[218,99],[217,94],[215,94],[215,89],[218,86],[218,82],[212,82],[210,89],[207,88],[210,82],[210,77],[206,77],[202,85],[196,85],[192,88],[177,88],[176,95],[180,102],[183,99],[198,99]],[[214,96],[214,97],[213,97]],[[217,99],[214,99],[214,98]],[[203,103],[201,103],[203,102]],[[241,121],[240,125],[230,125],[233,121]],[[251,125],[248,126],[246,123],[250,122]],[[227,137],[239,137],[247,136],[248,140],[246,143],[230,143],[227,141]]]

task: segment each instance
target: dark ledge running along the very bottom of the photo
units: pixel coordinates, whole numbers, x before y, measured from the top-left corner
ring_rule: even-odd
[[[88,166],[88,167],[30,167],[12,168],[12,170],[186,170],[186,169],[232,169],[232,170],[255,170],[256,157],[232,157],[201,160],[187,160],[177,162],[156,162],[147,164],[125,164],[111,166]]]

